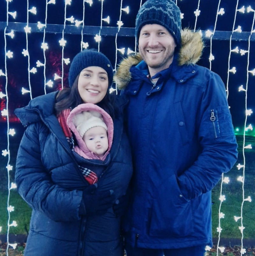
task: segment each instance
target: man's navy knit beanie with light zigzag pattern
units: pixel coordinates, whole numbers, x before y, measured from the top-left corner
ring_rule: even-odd
[[[139,9],[135,20],[138,42],[141,28],[146,24],[159,24],[173,36],[177,47],[181,44],[181,12],[171,0],[148,0]]]

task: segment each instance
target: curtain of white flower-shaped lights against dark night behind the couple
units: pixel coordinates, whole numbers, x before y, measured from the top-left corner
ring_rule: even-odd
[[[14,109],[27,105],[36,96],[68,86],[70,62],[83,49],[95,48],[106,54],[115,71],[123,57],[137,51],[135,17],[144,2],[0,0],[0,157],[3,163],[0,188],[5,188],[7,193],[6,201],[1,202],[7,222],[0,223],[0,234],[7,236],[7,255],[10,248],[17,246],[15,241],[9,241],[9,234],[15,233],[19,225],[13,218],[18,209],[11,194],[16,191],[15,159],[24,131]],[[255,220],[255,212],[244,214],[247,204],[251,204],[249,209],[255,209],[254,193],[246,190],[246,186],[254,182],[254,176],[245,175],[247,169],[251,172],[255,167],[255,2],[175,2],[182,12],[182,27],[200,31],[204,38],[206,48],[198,64],[218,73],[225,83],[239,145],[239,157],[230,171],[231,178],[228,174],[222,175],[215,188],[218,203],[215,203],[217,223],[213,228],[217,234],[217,255],[225,249],[221,236],[224,221],[229,218],[228,208],[224,208],[228,201],[224,193],[226,186],[235,186],[239,191],[236,199],[239,206],[230,223],[240,233],[240,253],[245,254],[243,239],[246,230],[252,228],[245,226],[245,218]],[[115,85],[111,91],[117,93]]]

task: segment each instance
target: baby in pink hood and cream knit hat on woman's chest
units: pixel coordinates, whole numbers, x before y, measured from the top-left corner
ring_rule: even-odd
[[[113,120],[102,108],[84,103],[74,108],[67,125],[77,145],[74,151],[86,159],[105,160],[113,142]]]

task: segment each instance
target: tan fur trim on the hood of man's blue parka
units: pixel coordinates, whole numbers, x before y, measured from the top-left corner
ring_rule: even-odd
[[[190,29],[184,29],[181,32],[181,48],[178,52],[178,65],[194,65],[198,62],[202,55],[204,43],[202,37],[198,32],[192,32]],[[131,81],[131,66],[137,65],[142,61],[139,53],[130,55],[123,59],[114,75],[114,82],[118,89],[124,89]]]

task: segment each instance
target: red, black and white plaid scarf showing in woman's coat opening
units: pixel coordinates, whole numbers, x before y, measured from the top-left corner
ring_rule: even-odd
[[[66,139],[70,145],[70,149],[73,151],[74,150],[74,138],[72,136],[70,128],[66,124],[66,120],[70,114],[71,110],[70,109],[64,109],[60,115],[58,116],[58,122],[60,126],[62,127],[62,130],[66,136]],[[98,181],[98,176],[91,171],[88,168],[85,168],[83,166],[79,166],[80,171],[82,172],[82,175],[84,179],[91,185],[94,184]]]

